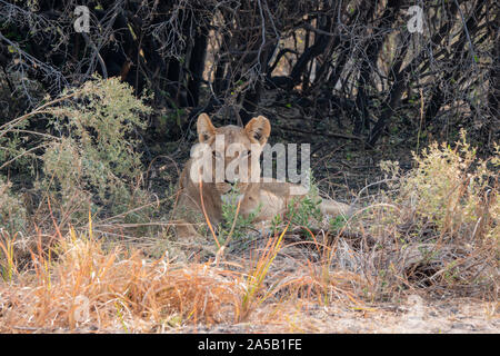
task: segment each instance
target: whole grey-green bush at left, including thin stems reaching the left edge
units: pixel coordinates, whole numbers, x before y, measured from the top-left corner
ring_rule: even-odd
[[[93,215],[110,216],[148,205],[150,196],[140,188],[143,167],[136,139],[137,129],[144,127],[142,116],[151,111],[146,99],[136,98],[133,89],[118,78],[99,77],[53,100],[47,97],[37,109],[0,126],[0,169],[37,177],[17,184],[33,186],[31,194],[49,201],[51,209],[40,211],[47,205],[39,205],[37,212],[43,217],[53,212],[60,224],[83,222],[89,208]],[[32,129],[44,122],[47,131]],[[12,199],[6,192],[2,197]],[[10,226],[18,206],[22,205],[9,208]],[[121,217],[143,222],[140,210]]]

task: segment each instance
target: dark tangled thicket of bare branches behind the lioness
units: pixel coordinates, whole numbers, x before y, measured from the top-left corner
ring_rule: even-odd
[[[89,33],[73,28],[81,4]],[[422,33],[407,28],[413,4]],[[97,71],[154,93],[147,154],[186,138],[203,111],[224,123],[262,113],[308,141],[364,149],[391,138],[418,149],[466,128],[488,152],[498,14],[494,0],[0,0],[0,125]]]

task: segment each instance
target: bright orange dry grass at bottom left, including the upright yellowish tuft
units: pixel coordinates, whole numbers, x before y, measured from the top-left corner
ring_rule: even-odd
[[[311,294],[324,284],[312,267],[312,275],[306,269],[299,276],[264,283],[267,277],[273,279],[270,266],[283,236],[284,231],[270,237],[246,266],[213,260],[176,264],[167,257],[147,259],[140,250],[106,249],[90,224],[87,234],[53,235],[49,248],[42,246],[40,234],[30,250],[30,268],[22,270],[12,253],[16,241],[4,239],[1,246],[8,259],[2,268],[9,274],[0,283],[0,332],[154,333],[233,324],[253,317],[271,299],[276,313],[277,300],[289,304],[297,290],[308,288]],[[220,267],[224,265],[229,268]],[[286,295],[276,297],[283,290]]]

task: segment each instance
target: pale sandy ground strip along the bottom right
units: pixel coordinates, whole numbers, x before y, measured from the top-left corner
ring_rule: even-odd
[[[344,306],[311,305],[280,313],[276,322],[213,327],[184,327],[176,333],[347,333],[347,334],[498,334],[498,303],[450,299],[424,301],[417,295],[399,306],[348,309]]]

